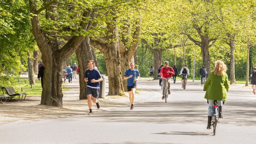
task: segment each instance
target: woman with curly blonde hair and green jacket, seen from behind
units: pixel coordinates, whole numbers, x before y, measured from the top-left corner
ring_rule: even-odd
[[[217,100],[220,105],[219,117],[222,118],[222,105],[223,101],[226,101],[226,92],[229,90],[226,70],[227,68],[224,62],[217,60],[213,71],[210,72],[210,75],[203,87],[203,91],[206,91],[204,98],[209,101],[207,129],[211,128],[212,106],[214,100]]]

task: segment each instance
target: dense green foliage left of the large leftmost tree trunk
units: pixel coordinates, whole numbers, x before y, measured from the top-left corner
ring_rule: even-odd
[[[28,52],[35,49],[28,2],[0,0],[0,85],[12,85],[12,76],[26,69]]]

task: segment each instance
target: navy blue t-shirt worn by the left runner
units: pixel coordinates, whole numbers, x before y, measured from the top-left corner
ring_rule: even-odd
[[[101,77],[102,76],[100,75],[99,71],[95,69],[92,69],[92,70],[87,69],[85,71],[85,78],[88,78],[87,86],[90,88],[99,88],[99,82],[92,83],[91,80],[92,79],[98,80]]]

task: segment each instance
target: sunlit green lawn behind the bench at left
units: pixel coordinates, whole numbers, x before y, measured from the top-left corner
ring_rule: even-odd
[[[22,92],[26,92],[27,96],[34,96],[34,95],[41,95],[42,94],[42,87],[41,87],[41,81],[36,79],[36,84],[31,85],[29,84],[28,78],[20,78],[18,82],[18,78],[14,78],[15,85],[13,87],[15,88],[16,92],[21,92],[21,88],[23,89]],[[25,83],[26,81],[26,83]],[[69,88],[65,88],[62,85],[62,91],[67,91]]]

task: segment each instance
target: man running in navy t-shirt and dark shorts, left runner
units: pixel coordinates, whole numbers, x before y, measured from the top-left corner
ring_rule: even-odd
[[[96,103],[97,108],[100,108],[98,95],[99,95],[99,82],[101,82],[102,76],[100,75],[99,71],[95,70],[93,65],[93,60],[87,61],[89,69],[85,71],[85,82],[87,82],[86,87],[86,95],[87,95],[87,103],[89,107],[88,115],[92,115],[92,101]]]

